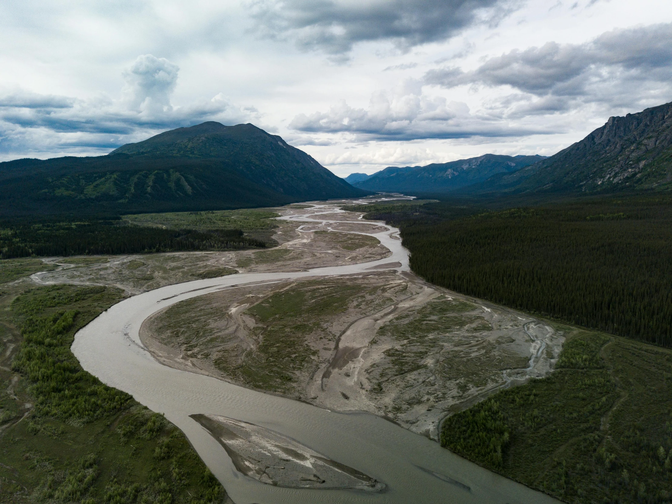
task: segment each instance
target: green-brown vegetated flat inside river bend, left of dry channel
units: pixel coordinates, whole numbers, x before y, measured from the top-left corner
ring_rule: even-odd
[[[248,288],[242,300],[237,292],[233,298],[228,291],[206,294],[157,313],[146,329],[200,368],[209,362],[228,380],[291,394],[298,376],[314,371],[318,349],[333,347],[339,329],[332,319],[378,290],[334,279],[280,284],[270,292]]]

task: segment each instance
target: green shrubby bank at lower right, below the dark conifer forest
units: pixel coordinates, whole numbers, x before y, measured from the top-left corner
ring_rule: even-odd
[[[672,351],[564,328],[548,378],[448,417],[441,444],[570,503],[672,497]]]

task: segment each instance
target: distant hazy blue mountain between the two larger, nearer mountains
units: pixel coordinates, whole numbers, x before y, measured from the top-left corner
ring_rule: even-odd
[[[360,189],[380,192],[450,192],[485,181],[496,173],[517,171],[542,159],[545,158],[486,154],[422,167],[387,167],[353,185]]]

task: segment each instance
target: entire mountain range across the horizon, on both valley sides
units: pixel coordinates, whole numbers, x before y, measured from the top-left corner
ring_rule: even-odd
[[[353,185],[350,185],[351,182]],[[370,192],[506,196],[672,190],[672,103],[612,117],[548,158],[486,154],[345,180],[252,124],[204,122],[106,156],[0,163],[0,217],[276,206]]]

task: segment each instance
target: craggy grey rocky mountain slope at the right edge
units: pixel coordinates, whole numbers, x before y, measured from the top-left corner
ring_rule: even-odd
[[[495,175],[471,194],[672,189],[672,103],[610,117],[583,140],[515,173]]]

